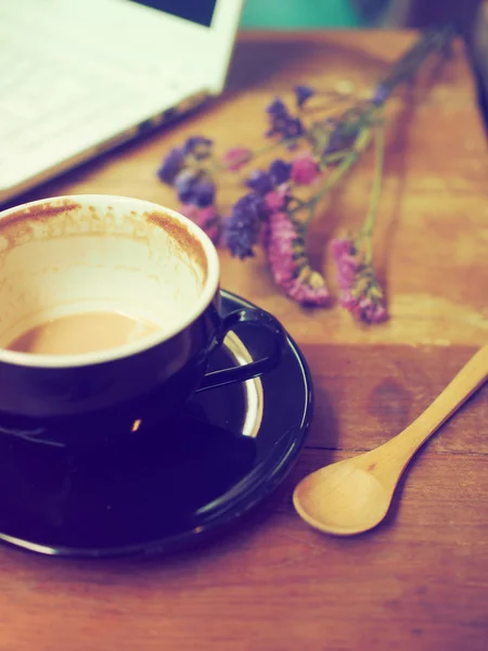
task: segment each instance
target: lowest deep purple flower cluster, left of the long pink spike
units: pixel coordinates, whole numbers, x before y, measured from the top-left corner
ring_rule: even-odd
[[[256,192],[235,202],[226,233],[226,244],[233,256],[244,259],[254,255],[253,248],[266,215],[265,201]]]

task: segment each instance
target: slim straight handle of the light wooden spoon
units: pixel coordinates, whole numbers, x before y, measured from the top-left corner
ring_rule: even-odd
[[[479,348],[470,361],[459,371],[446,388],[427,409],[404,429],[398,436],[388,441],[383,448],[391,445],[395,457],[404,464],[423,443],[427,441],[488,378],[488,345]]]

